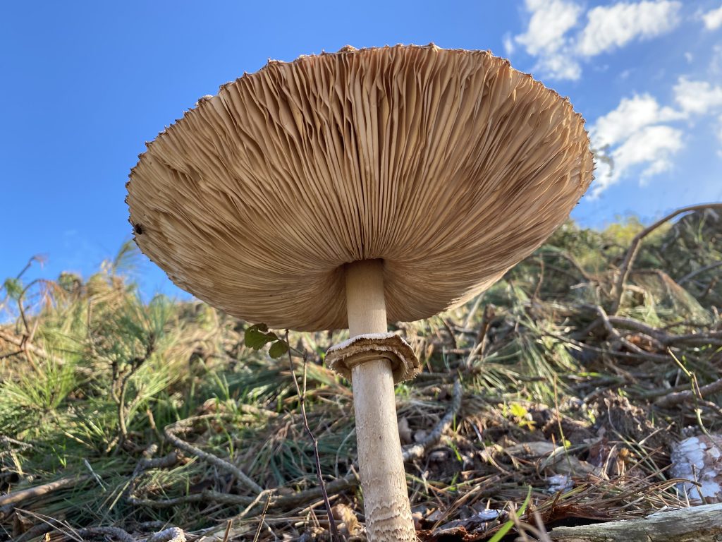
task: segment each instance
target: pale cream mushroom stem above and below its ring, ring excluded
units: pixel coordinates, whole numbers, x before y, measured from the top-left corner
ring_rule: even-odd
[[[346,304],[351,337],[386,333],[383,262],[346,267]],[[386,358],[352,368],[356,439],[366,531],[371,542],[415,541],[401,457],[391,363]]]

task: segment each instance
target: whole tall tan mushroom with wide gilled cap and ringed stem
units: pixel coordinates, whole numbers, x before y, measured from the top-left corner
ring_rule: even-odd
[[[419,364],[387,322],[484,291],[591,181],[584,121],[488,51],[393,46],[269,61],[199,100],[131,171],[136,242],[249,322],[349,327],[370,541],[415,540],[393,384]]]

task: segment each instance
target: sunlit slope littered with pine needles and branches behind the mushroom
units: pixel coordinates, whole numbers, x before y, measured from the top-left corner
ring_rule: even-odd
[[[567,224],[468,304],[391,327],[424,367],[396,387],[422,541],[720,502],[672,455],[722,446],[720,207]],[[365,540],[352,393],[323,364],[347,333],[258,341],[199,302],[143,303],[133,257],[0,290],[0,541],[330,540],[317,459]]]

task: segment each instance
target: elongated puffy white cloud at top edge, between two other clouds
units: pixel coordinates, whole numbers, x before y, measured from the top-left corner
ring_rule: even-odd
[[[595,56],[623,47],[635,38],[654,38],[669,32],[679,23],[681,8],[679,1],[661,0],[619,2],[590,9],[578,51],[583,56]]]

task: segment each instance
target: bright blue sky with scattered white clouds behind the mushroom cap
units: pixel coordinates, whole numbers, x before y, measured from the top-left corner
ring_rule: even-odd
[[[394,43],[490,49],[568,95],[600,168],[585,225],[722,200],[722,1],[22,1],[0,17],[0,280],[89,275],[129,238],[144,142],[266,60]],[[150,264],[145,291],[173,293]]]

